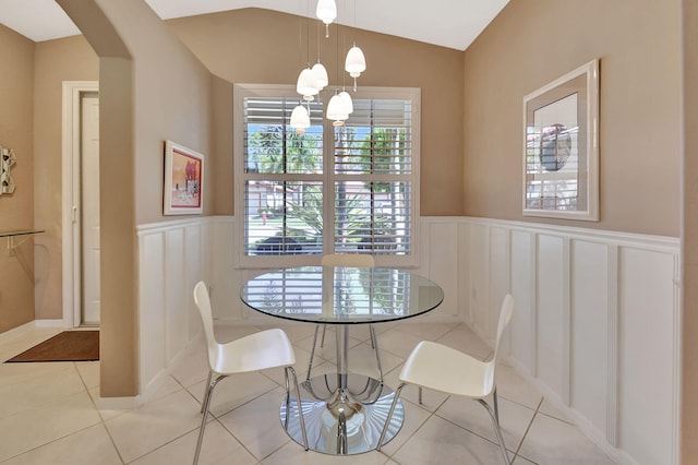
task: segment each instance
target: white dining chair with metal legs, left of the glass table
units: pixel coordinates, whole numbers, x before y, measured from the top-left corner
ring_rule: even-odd
[[[201,408],[203,418],[201,420],[201,430],[198,431],[198,441],[196,442],[196,452],[194,453],[194,465],[198,463],[198,455],[201,453],[201,445],[204,439],[204,429],[206,428],[210,398],[213,397],[214,389],[218,382],[231,374],[266,370],[268,368],[285,368],[286,412],[289,412],[290,404],[289,373],[293,378],[296,401],[298,403],[298,415],[303,434],[303,446],[308,450],[308,434],[305,432],[305,421],[303,419],[303,409],[301,407],[301,394],[298,388],[298,378],[293,370],[296,355],[284,330],[276,329],[262,331],[221,344],[216,341],[216,336],[214,334],[210,298],[208,296],[208,289],[203,282],[198,282],[194,287],[194,302],[198,308],[204,326],[209,367],[206,391],[204,393],[204,401],[202,402]],[[212,381],[214,374],[216,378]]]

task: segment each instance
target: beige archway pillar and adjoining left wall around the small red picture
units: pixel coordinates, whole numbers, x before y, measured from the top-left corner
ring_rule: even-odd
[[[100,57],[100,393],[133,396],[139,320],[156,311],[137,308],[136,226],[176,219],[163,216],[166,140],[215,160],[214,80],[142,0],[59,3]]]

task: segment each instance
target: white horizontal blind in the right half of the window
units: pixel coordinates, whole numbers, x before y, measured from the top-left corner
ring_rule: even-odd
[[[356,99],[354,112],[335,129],[335,251],[410,253],[411,106],[410,99]]]

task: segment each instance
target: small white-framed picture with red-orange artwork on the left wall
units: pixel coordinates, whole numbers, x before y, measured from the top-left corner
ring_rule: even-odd
[[[172,141],[165,142],[165,215],[202,213],[204,156]]]

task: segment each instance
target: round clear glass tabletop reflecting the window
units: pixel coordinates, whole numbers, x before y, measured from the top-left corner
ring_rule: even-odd
[[[240,298],[273,317],[310,323],[378,323],[417,317],[444,300],[443,289],[405,270],[299,266],[248,281]]]

